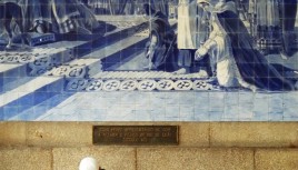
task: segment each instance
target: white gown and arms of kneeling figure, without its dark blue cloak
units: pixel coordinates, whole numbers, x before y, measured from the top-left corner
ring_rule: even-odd
[[[257,89],[247,83],[240,76],[230,46],[230,39],[225,30],[218,24],[217,16],[211,17],[212,31],[209,39],[196,51],[196,60],[201,60],[207,53],[212,58],[216,68],[217,80],[221,87],[244,87]]]

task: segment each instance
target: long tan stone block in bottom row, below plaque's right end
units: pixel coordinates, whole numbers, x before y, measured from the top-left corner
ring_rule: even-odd
[[[254,170],[254,150],[138,148],[138,170]]]

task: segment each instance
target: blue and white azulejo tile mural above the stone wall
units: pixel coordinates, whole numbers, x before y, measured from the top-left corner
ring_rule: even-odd
[[[296,0],[1,0],[0,120],[296,121]]]

